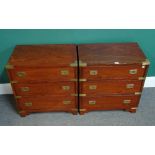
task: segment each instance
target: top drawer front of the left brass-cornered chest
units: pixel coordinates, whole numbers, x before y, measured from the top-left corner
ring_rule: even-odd
[[[12,81],[70,81],[75,78],[75,68],[15,68],[9,70]]]

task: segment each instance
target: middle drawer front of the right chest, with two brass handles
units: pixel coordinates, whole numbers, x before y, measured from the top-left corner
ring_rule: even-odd
[[[128,94],[141,91],[142,82],[138,80],[103,80],[81,83],[81,93],[92,94]]]

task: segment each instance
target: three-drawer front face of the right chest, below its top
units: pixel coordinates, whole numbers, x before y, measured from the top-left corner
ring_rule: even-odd
[[[146,66],[101,65],[80,68],[80,112],[136,108]]]

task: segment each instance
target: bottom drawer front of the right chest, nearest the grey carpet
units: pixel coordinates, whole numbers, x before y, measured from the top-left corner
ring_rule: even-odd
[[[101,96],[101,97],[81,97],[80,109],[104,110],[123,109],[127,107],[137,107],[139,96]]]

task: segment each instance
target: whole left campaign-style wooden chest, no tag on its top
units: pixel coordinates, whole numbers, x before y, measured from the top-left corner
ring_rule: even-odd
[[[75,45],[16,46],[6,68],[19,114],[77,114],[76,60]]]

